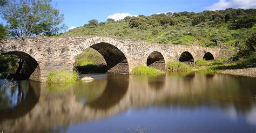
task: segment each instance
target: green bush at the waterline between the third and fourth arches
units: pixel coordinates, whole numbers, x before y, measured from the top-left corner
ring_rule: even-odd
[[[168,71],[173,71],[173,72],[177,72],[177,71],[191,71],[192,68],[182,62],[169,62],[167,63],[167,68]]]

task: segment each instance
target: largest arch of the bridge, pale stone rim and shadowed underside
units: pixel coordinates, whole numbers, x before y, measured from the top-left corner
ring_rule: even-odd
[[[104,57],[109,73],[129,73],[129,62],[127,60],[127,48],[123,43],[111,38],[93,37],[86,39],[75,49],[73,60],[87,48],[97,50]]]

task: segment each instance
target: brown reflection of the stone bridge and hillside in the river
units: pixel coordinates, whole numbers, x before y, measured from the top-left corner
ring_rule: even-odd
[[[96,80],[92,82],[70,85],[48,85],[28,81],[17,83],[16,88],[23,86],[21,88],[25,93],[24,99],[14,107],[8,106],[14,102],[5,102],[4,106],[4,101],[1,101],[0,130],[62,132],[78,123],[86,125],[95,120],[100,123],[127,113],[133,108],[150,107],[158,108],[159,112],[163,108],[180,109],[180,112],[211,108],[230,119],[241,117],[247,124],[243,123],[240,129],[256,128],[256,120],[252,119],[256,116],[256,90],[252,87],[256,86],[255,78],[200,73],[170,73],[161,76],[104,74],[93,77]],[[1,87],[1,100],[5,98],[6,101],[8,97],[4,97],[3,86]],[[9,98],[10,101],[17,100]],[[158,112],[155,115],[157,117]],[[201,119],[203,118],[198,117],[199,121]],[[165,124],[172,123],[171,119],[163,121]],[[187,122],[184,117],[180,117],[179,121]],[[218,119],[213,121],[217,122]],[[118,127],[118,123],[114,124]],[[155,123],[154,126],[158,124],[163,123]],[[206,128],[216,125],[218,123],[210,124]],[[235,130],[234,127],[226,128],[229,131]],[[154,131],[153,127],[152,130]]]

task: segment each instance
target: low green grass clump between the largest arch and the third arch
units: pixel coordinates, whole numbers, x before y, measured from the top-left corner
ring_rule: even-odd
[[[133,68],[132,73],[135,74],[135,75],[161,75],[164,72],[160,71],[160,70],[157,70],[155,68],[140,65],[139,67]]]

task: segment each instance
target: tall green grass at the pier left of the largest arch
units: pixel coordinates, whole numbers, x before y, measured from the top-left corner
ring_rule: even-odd
[[[78,72],[57,71],[50,72],[47,76],[48,83],[74,83],[78,78]]]

